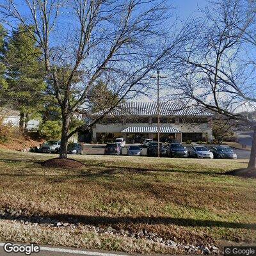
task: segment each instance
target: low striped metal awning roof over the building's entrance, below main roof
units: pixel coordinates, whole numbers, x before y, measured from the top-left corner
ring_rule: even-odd
[[[176,128],[173,128],[172,126],[168,127],[160,127],[159,129],[160,133],[180,133]],[[130,126],[124,129],[122,132],[126,133],[157,133],[157,127],[156,126],[147,126],[147,127],[138,127],[138,126]]]

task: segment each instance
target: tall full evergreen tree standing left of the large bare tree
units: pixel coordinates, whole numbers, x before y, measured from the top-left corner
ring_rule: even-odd
[[[4,98],[8,105],[20,111],[20,129],[26,130],[29,118],[42,108],[44,73],[42,52],[23,26],[13,32],[4,61],[8,69]]]

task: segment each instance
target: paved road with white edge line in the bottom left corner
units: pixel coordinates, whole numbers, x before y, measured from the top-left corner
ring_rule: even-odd
[[[25,244],[24,244],[25,245]],[[14,252],[4,252],[4,243],[0,243],[0,255],[1,256],[24,256],[25,253],[14,253]],[[99,252],[99,251],[89,251],[89,250],[79,250],[74,248],[54,248],[51,246],[40,246],[40,252],[31,253],[35,256],[125,256],[125,253],[115,253],[115,252]]]

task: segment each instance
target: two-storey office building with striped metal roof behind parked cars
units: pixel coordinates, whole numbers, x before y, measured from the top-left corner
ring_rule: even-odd
[[[95,115],[102,115],[96,113]],[[211,113],[199,108],[183,107],[172,102],[160,104],[161,141],[211,141]],[[125,138],[127,143],[157,140],[156,102],[126,102],[110,111],[92,127],[92,141],[106,142]]]

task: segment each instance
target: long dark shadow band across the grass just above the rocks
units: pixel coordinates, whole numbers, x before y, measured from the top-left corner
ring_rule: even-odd
[[[43,218],[42,218],[43,217]],[[147,224],[147,225],[177,225],[182,227],[219,227],[219,228],[244,228],[256,230],[255,223],[233,223],[228,221],[214,220],[195,220],[189,218],[170,218],[170,217],[105,217],[105,216],[84,216],[75,214],[54,214],[48,216],[3,216],[4,220],[28,220],[32,223],[52,223],[52,221],[64,221],[67,223],[77,223],[84,225],[125,225]]]

